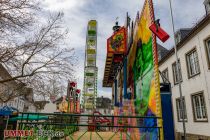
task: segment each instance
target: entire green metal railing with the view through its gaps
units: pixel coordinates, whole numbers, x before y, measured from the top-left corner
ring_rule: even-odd
[[[102,140],[111,140],[114,137],[128,140],[134,139],[134,137],[143,140],[161,139],[161,127],[157,126],[157,120],[161,118],[155,116],[112,116],[66,113],[21,113],[21,116],[18,121],[19,130],[31,130],[33,128],[35,132],[39,130],[60,131],[64,134],[62,136],[63,138],[69,137],[72,140],[79,140],[85,137],[87,133],[90,133],[90,139],[94,139],[94,132]],[[34,120],[30,118],[31,116],[34,117]],[[103,118],[106,121],[101,121]],[[102,135],[104,131],[110,133],[109,137],[105,138]],[[82,133],[75,138],[74,134],[78,132]]]

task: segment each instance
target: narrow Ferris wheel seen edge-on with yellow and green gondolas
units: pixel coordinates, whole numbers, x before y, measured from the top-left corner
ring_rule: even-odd
[[[90,20],[87,26],[85,63],[84,63],[84,83],[82,94],[82,105],[85,110],[96,108],[97,98],[97,75],[96,67],[97,55],[97,21]]]

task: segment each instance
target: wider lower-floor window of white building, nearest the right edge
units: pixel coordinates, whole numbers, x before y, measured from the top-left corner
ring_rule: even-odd
[[[192,104],[194,120],[207,121],[207,112],[203,93],[192,95]]]

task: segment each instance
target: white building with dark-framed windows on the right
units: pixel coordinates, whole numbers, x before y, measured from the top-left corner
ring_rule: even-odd
[[[207,0],[210,8],[210,0]],[[181,29],[176,40],[180,62],[181,88],[186,114],[180,106],[180,94],[174,49],[160,60],[159,69],[170,81],[176,138],[183,133],[185,116],[189,140],[210,139],[210,10],[193,28]]]

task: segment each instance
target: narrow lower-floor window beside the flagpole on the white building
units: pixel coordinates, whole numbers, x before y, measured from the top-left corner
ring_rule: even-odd
[[[183,98],[183,102],[184,102],[184,108],[182,107],[180,98],[176,99],[178,121],[183,121],[183,119],[185,119],[185,121],[187,120],[187,111],[186,111],[186,105],[185,105],[185,99],[184,98]],[[185,109],[185,111],[184,111],[184,109]],[[185,115],[184,115],[184,112],[185,112]]]

